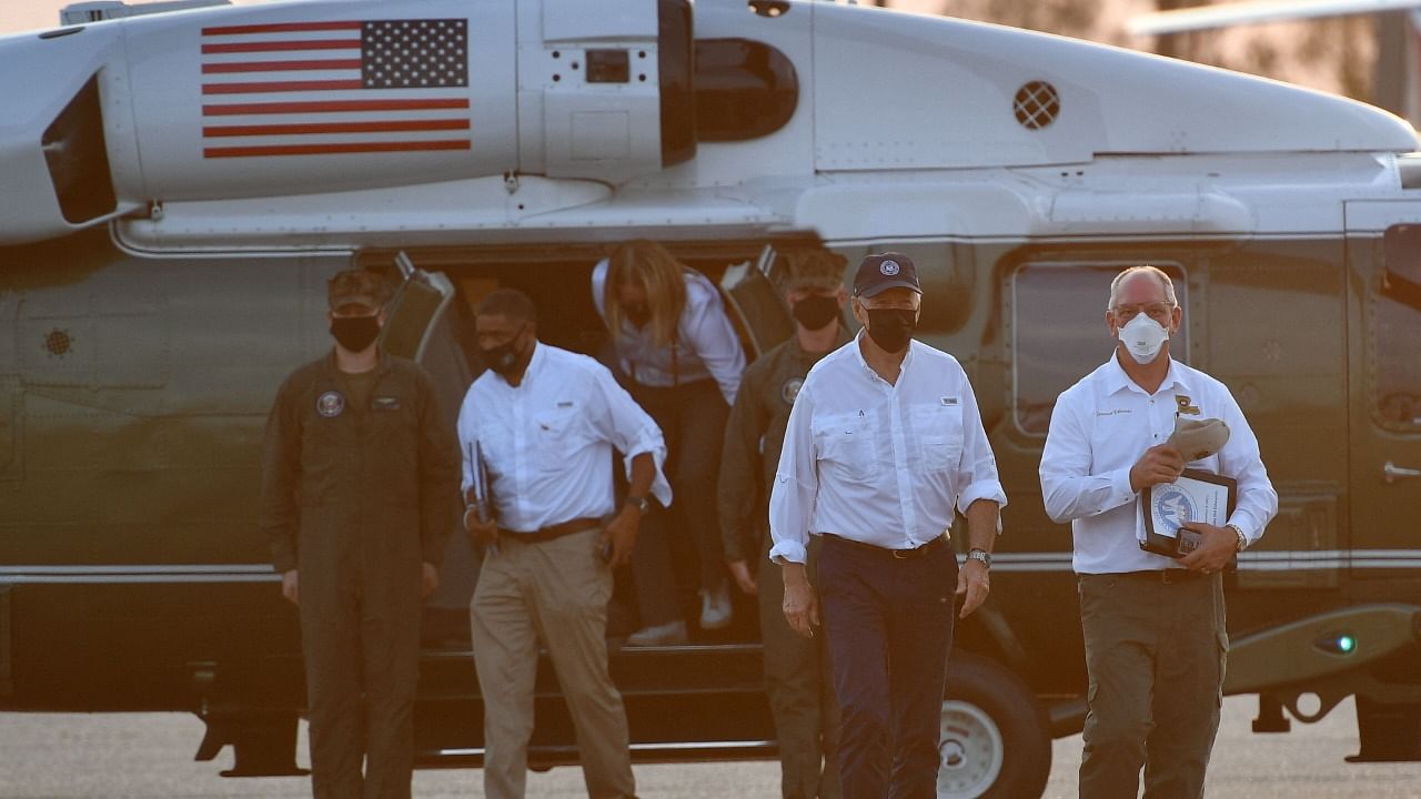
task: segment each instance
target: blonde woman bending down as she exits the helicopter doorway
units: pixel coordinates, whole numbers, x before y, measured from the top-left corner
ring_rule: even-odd
[[[627,242],[598,263],[593,300],[611,331],[627,388],[666,439],[671,522],[695,543],[701,627],[722,628],[730,623],[730,591],[716,520],[716,478],[726,419],[745,371],[740,340],[715,283],[657,242]],[[655,574],[645,559],[634,562],[634,569],[644,627],[628,643],[685,640],[669,574]]]

